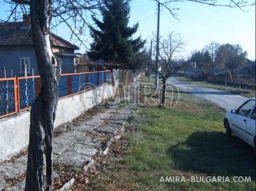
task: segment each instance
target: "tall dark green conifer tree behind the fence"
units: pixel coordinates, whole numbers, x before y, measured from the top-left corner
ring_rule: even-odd
[[[120,64],[122,68],[138,68],[136,57],[145,42],[139,36],[133,39],[139,24],[128,26],[130,0],[107,0],[101,9],[102,21],[93,17],[97,28],[91,28],[94,41],[89,57],[102,59],[109,63]]]

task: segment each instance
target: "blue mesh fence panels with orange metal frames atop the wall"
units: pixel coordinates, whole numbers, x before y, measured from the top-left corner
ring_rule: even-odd
[[[112,84],[110,71],[62,74],[59,98],[102,84]],[[41,91],[41,85],[39,76],[0,79],[0,118],[30,109]]]

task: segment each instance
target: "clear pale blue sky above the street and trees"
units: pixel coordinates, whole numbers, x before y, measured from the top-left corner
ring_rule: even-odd
[[[226,0],[221,0],[223,1]],[[130,25],[139,22],[139,29],[134,37],[141,35],[149,42],[152,33],[157,30],[157,5],[151,0],[133,0],[130,6]],[[186,41],[181,58],[186,58],[193,50],[202,50],[209,42],[215,41],[220,44],[240,44],[248,52],[248,58],[255,60],[255,6],[245,8],[246,12],[195,2],[178,2],[172,6],[180,9],[176,11],[178,20],[171,17],[168,10],[161,8],[160,35],[170,31],[181,34]],[[9,5],[0,0],[0,19],[7,17],[5,10],[8,9]],[[59,36],[70,39],[67,27],[60,25],[56,32]],[[79,52],[85,51],[86,48],[81,46]]]

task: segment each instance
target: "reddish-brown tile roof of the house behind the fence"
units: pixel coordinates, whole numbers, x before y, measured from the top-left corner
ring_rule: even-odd
[[[22,28],[23,22],[0,24],[0,45],[33,45],[31,29]],[[51,33],[51,42],[54,46],[68,49],[79,49],[76,45]]]

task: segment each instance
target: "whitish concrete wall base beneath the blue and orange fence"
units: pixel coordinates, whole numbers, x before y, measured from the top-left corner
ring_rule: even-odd
[[[96,104],[112,98],[114,89],[112,85],[104,84],[79,95],[60,98],[54,127],[67,123]],[[28,146],[29,129],[30,111],[0,119],[0,162]]]

